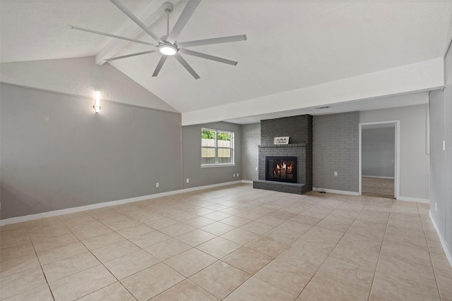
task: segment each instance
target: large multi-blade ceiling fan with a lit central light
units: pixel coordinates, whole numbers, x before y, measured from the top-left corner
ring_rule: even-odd
[[[156,44],[152,44],[152,43],[148,43],[148,42],[143,42],[138,39],[131,39],[129,37],[121,37],[119,35],[111,35],[109,33],[99,32],[97,30],[89,30],[86,28],[70,25],[69,27],[71,27],[72,29],[75,29],[75,30],[91,32],[91,33],[95,33],[97,35],[105,35],[107,37],[114,37],[117,39],[125,39],[130,42],[146,44],[146,45],[150,45],[150,46],[157,48],[157,49],[153,49],[153,50],[149,50],[149,51],[137,52],[135,54],[127,54],[124,56],[117,56],[117,57],[113,57],[110,59],[106,59],[105,61],[114,61],[117,59],[125,59],[125,58],[131,57],[131,56],[141,56],[143,54],[152,54],[154,52],[160,52],[160,54],[162,54],[162,56],[160,57],[160,61],[157,63],[157,68],[155,68],[155,70],[154,70],[153,77],[158,75],[158,73],[160,72],[160,69],[162,69],[162,66],[165,63],[165,61],[167,60],[168,56],[174,56],[174,58],[177,59],[177,61],[179,61],[179,63],[181,63],[181,65],[184,66],[184,68],[187,71],[189,71],[189,73],[191,75],[193,75],[193,77],[196,80],[198,78],[200,78],[199,75],[195,72],[195,70],[193,70],[193,68],[191,68],[189,63],[187,63],[185,61],[185,59],[181,56],[181,54],[188,54],[190,56],[198,56],[202,59],[218,61],[220,63],[227,63],[232,66],[236,66],[238,63],[237,61],[230,61],[228,59],[222,59],[218,56],[211,56],[210,54],[203,54],[201,52],[189,50],[186,48],[201,46],[201,45],[246,41],[246,35],[232,35],[229,37],[215,37],[213,39],[198,39],[198,40],[189,41],[189,42],[177,42],[176,41],[177,38],[179,37],[180,33],[184,29],[186,23],[190,20],[191,15],[193,15],[195,9],[198,7],[201,0],[189,0],[187,2],[186,6],[184,8],[184,11],[182,11],[181,16],[179,16],[179,19],[177,20],[176,24],[172,28],[171,32],[169,32],[169,13],[172,12],[174,6],[169,2],[165,2],[163,4],[163,8],[165,10],[165,13],[167,13],[167,35],[164,35],[162,37],[158,37],[157,35],[155,35],[155,33],[152,30],[150,30],[143,22],[141,22],[141,20],[139,20],[135,15],[133,15],[133,13],[131,13],[129,11],[129,9],[126,8],[126,6],[121,4],[121,2],[119,2],[118,0],[110,0],[110,2],[112,2],[112,4],[114,4],[114,6],[117,6],[117,8],[119,8],[119,10],[121,10],[123,13],[125,13],[126,16],[128,16],[131,20],[133,20],[133,22],[136,23],[139,27],[141,27],[148,35],[150,35],[150,37],[155,39],[155,41],[158,44],[156,45]]]

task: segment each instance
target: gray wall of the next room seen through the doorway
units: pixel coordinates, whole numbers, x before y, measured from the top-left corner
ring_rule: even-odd
[[[394,178],[395,128],[362,129],[362,176]]]

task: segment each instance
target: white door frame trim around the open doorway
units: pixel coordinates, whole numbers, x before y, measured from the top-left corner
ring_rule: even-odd
[[[394,162],[394,197],[400,197],[400,121],[376,121],[359,123],[359,195],[362,195],[362,126],[393,124],[396,128],[396,162]]]

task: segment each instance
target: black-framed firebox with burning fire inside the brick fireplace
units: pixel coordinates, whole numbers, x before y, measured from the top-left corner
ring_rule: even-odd
[[[266,156],[266,180],[297,183],[297,157]]]

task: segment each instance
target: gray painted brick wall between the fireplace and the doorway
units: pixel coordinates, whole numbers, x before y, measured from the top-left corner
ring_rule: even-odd
[[[314,116],[313,186],[359,190],[359,113]],[[334,176],[334,172],[338,176]]]

